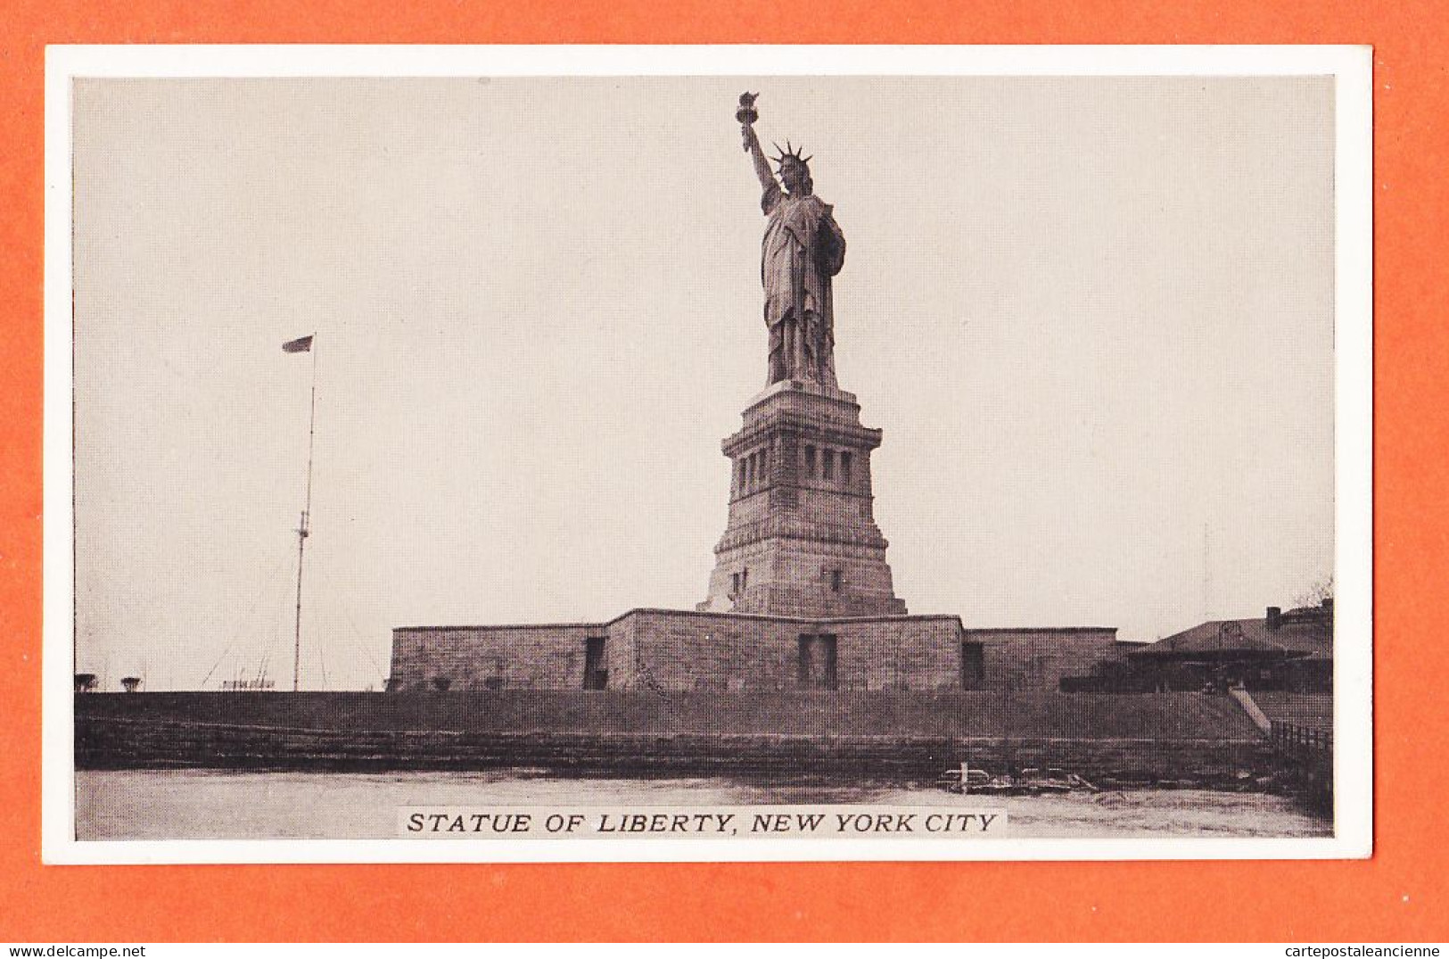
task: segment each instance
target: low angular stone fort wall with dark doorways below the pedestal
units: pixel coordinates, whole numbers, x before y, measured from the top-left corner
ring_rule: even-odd
[[[638,608],[606,623],[396,629],[388,690],[1055,690],[1117,646],[1111,627]]]

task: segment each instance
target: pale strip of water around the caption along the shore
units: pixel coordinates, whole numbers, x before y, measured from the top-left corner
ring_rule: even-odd
[[[75,774],[75,830],[87,839],[393,839],[403,805],[746,805],[869,803],[1004,808],[1003,839],[1332,836],[1287,797],[1129,790],[961,797],[932,784],[729,778],[568,778],[545,772]]]

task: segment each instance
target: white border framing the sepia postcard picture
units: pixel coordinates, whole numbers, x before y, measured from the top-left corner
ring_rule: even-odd
[[[51,46],[45,81],[42,830],[46,863],[1346,859],[1372,852],[1372,49],[1368,46]],[[106,840],[74,836],[71,81],[77,77],[1333,75],[1330,839]]]

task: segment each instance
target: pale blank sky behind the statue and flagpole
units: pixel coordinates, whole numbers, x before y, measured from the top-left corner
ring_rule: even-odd
[[[813,154],[911,613],[1153,639],[1333,555],[1332,78],[84,80],[78,668],[304,688],[396,626],[693,608]]]

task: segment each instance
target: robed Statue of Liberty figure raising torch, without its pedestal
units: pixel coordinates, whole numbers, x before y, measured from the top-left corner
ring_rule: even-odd
[[[814,196],[810,156],[785,142],[777,145],[775,180],[755,136],[756,94],[740,94],[735,119],[740,122],[745,152],[764,187],[761,207],[768,217],[761,248],[759,275],[765,287],[765,326],[769,329],[769,382],[809,380],[835,387],[835,311],[830,278],[845,265],[845,235],[833,207]]]

